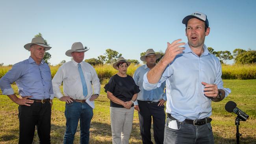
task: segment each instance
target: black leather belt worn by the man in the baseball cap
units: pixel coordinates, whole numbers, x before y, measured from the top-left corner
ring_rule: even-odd
[[[176,120],[171,114],[167,113],[167,117],[170,118],[171,120]],[[194,126],[202,126],[204,124],[210,123],[211,118],[203,118],[203,119],[195,119],[195,120],[189,120],[185,119],[183,122],[186,124],[192,124]]]

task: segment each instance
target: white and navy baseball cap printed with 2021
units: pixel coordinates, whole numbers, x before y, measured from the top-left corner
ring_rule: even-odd
[[[187,17],[183,18],[182,24],[186,24],[191,18],[197,18],[198,20],[202,20],[205,23],[206,28],[209,27],[209,22],[207,19],[206,14],[196,11],[195,13],[192,13],[191,15],[188,15]]]

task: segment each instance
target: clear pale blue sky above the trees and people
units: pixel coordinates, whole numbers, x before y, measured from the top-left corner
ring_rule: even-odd
[[[27,59],[23,46],[39,32],[52,46],[52,65],[69,61],[65,52],[79,41],[90,48],[85,59],[111,48],[139,60],[148,48],[164,52],[167,42],[187,42],[182,19],[195,11],[209,20],[206,46],[256,50],[255,6],[255,0],[2,0],[0,63]]]

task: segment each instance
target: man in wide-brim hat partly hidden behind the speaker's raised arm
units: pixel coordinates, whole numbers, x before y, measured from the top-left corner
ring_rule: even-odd
[[[151,141],[151,122],[153,118],[154,140],[156,144],[163,144],[165,111],[164,103],[167,100],[164,92],[165,83],[154,90],[143,89],[143,76],[156,65],[156,60],[161,54],[156,54],[153,49],[148,49],[146,54],[141,56],[141,61],[146,62],[134,72],[134,81],[141,90],[138,93],[137,100],[134,102],[134,109],[139,114],[139,126],[143,144],[152,144]]]

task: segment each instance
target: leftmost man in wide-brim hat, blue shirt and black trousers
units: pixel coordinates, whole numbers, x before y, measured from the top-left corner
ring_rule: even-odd
[[[0,79],[0,88],[13,102],[19,105],[19,144],[33,142],[35,126],[40,143],[50,144],[51,105],[53,90],[50,67],[43,57],[50,50],[42,37],[35,37],[24,45],[30,51],[30,57],[13,65]],[[11,83],[19,88],[18,98]]]

